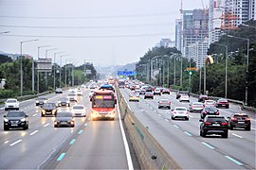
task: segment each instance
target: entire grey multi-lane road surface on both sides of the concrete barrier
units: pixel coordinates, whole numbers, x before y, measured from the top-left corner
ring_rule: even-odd
[[[3,130],[3,115],[0,110],[0,169],[128,169],[137,164],[130,155],[119,122],[92,121],[90,119],[89,90],[83,90],[79,102],[87,110],[87,117],[77,117],[75,127],[53,127],[54,117],[41,117],[40,107],[35,99],[20,103],[20,110],[29,115],[28,130]],[[128,100],[131,93],[121,90]],[[46,97],[51,102],[67,95],[51,93]],[[171,120],[171,110],[159,110],[157,102],[167,98],[175,106],[189,103],[178,102],[175,94],[156,95],[155,99],[128,102],[138,120],[148,127],[156,141],[184,169],[255,169],[255,113],[247,112],[251,117],[250,131],[229,130],[229,138],[219,136],[202,138],[199,136],[199,113],[190,113],[189,121]],[[191,102],[196,101],[191,97]],[[239,112],[237,105],[229,109],[220,109],[220,113],[229,116]],[[130,154],[130,155],[128,155]],[[139,168],[139,166],[135,166]]]

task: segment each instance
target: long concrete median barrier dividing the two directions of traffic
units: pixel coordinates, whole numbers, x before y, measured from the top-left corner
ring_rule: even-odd
[[[126,100],[117,89],[119,110],[124,121],[129,139],[133,144],[141,169],[181,169],[174,159],[157,143],[127,105]]]

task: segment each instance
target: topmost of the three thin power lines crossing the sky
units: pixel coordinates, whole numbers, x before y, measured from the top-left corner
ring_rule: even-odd
[[[173,13],[173,14],[172,14]],[[47,20],[66,20],[66,19],[107,19],[107,18],[133,18],[133,17],[156,17],[156,16],[166,16],[166,15],[174,15],[176,14],[176,11],[173,12],[158,12],[158,13],[141,13],[141,14],[129,14],[129,15],[108,15],[108,16],[49,16],[49,17],[40,17],[40,16],[14,16],[14,15],[0,15],[0,18],[9,18],[9,19],[47,19]]]

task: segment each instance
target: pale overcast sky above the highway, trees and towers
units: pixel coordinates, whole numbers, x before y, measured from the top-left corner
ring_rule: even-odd
[[[203,0],[204,6],[208,0]],[[183,0],[184,9],[202,8],[202,0]],[[96,65],[136,62],[162,38],[174,40],[180,0],[0,0],[0,51],[37,59],[70,55],[63,63]],[[60,63],[61,54],[56,61]]]

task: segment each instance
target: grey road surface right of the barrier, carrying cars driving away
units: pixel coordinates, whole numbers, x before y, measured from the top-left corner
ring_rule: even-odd
[[[121,89],[129,101],[129,89]],[[229,138],[213,135],[207,138],[199,135],[200,113],[190,113],[190,120],[172,120],[171,110],[159,110],[158,101],[169,99],[172,108],[189,107],[189,102],[179,102],[175,93],[155,95],[155,99],[128,102],[138,120],[148,127],[156,141],[161,144],[172,158],[184,169],[255,169],[255,113],[247,112],[251,118],[250,131],[229,130]],[[190,97],[191,102],[197,98]],[[225,117],[232,112],[240,112],[239,107],[230,104],[229,109],[219,109]]]

